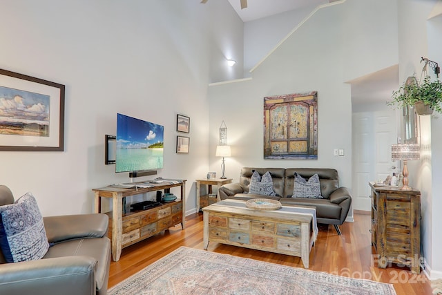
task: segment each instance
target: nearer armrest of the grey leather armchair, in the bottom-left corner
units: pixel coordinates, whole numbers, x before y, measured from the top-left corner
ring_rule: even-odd
[[[95,294],[97,260],[66,256],[0,265],[1,294]]]

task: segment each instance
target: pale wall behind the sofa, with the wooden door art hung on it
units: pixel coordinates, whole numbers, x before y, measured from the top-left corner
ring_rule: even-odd
[[[372,9],[381,4],[382,10]],[[395,7],[396,1],[352,0],[321,8],[253,70],[251,79],[213,84],[209,88],[211,169],[220,171],[215,146],[224,120],[232,146],[227,177],[238,181],[242,166],[328,167],[337,169],[340,184],[351,188],[352,102],[345,81],[397,63],[396,24],[391,22]],[[376,14],[375,23],[373,15],[366,12]],[[355,35],[364,38],[352,37]],[[377,48],[386,39],[393,41]],[[348,46],[366,48],[359,55],[358,51],[352,53],[352,62],[347,62]],[[370,50],[370,55],[384,57],[366,59]],[[264,160],[263,97],[305,91],[318,91],[318,160]],[[345,149],[345,156],[335,157],[333,149]]]

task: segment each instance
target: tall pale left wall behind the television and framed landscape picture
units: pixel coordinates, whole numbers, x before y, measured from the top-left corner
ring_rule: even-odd
[[[1,184],[32,191],[44,216],[93,211],[91,189],[128,182],[104,164],[116,113],[164,125],[165,178],[209,171],[207,85],[242,76],[243,23],[227,1],[0,1],[0,68],[66,85],[64,152],[1,151]],[[239,62],[227,68],[225,57]],[[191,118],[175,153],[176,115]],[[1,138],[0,138],[1,140]],[[150,177],[154,178],[156,176]],[[141,178],[146,180],[150,178]]]

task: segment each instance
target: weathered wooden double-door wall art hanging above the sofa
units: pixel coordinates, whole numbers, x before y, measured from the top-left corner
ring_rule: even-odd
[[[318,92],[264,97],[264,158],[318,159]]]

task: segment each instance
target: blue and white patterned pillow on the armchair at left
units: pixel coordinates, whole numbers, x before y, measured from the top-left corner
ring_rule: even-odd
[[[8,263],[41,259],[48,251],[43,217],[31,193],[0,206],[0,249]]]

